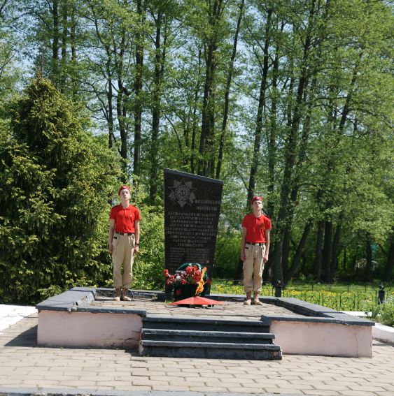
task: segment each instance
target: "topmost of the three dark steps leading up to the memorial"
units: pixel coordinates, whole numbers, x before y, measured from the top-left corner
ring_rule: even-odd
[[[167,330],[199,330],[229,332],[269,332],[269,325],[260,321],[232,321],[213,318],[185,318],[176,316],[146,316],[143,328]]]

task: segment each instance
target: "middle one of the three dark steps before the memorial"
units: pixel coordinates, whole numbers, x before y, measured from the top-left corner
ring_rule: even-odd
[[[275,336],[262,332],[230,332],[203,330],[169,330],[143,328],[141,339],[173,342],[202,342],[228,344],[272,344]]]

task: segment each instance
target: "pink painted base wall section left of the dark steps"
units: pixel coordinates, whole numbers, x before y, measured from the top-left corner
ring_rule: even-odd
[[[136,348],[142,318],[134,314],[40,311],[38,345]]]

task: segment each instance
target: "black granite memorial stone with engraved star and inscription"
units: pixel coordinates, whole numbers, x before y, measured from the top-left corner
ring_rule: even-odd
[[[212,276],[223,182],[164,168],[165,267],[199,263]]]

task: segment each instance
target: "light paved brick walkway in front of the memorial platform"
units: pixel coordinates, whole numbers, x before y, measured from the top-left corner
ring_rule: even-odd
[[[372,359],[283,355],[279,361],[203,360],[141,358],[121,349],[41,348],[36,330],[33,314],[0,332],[0,388],[394,396],[394,346],[375,340]]]

